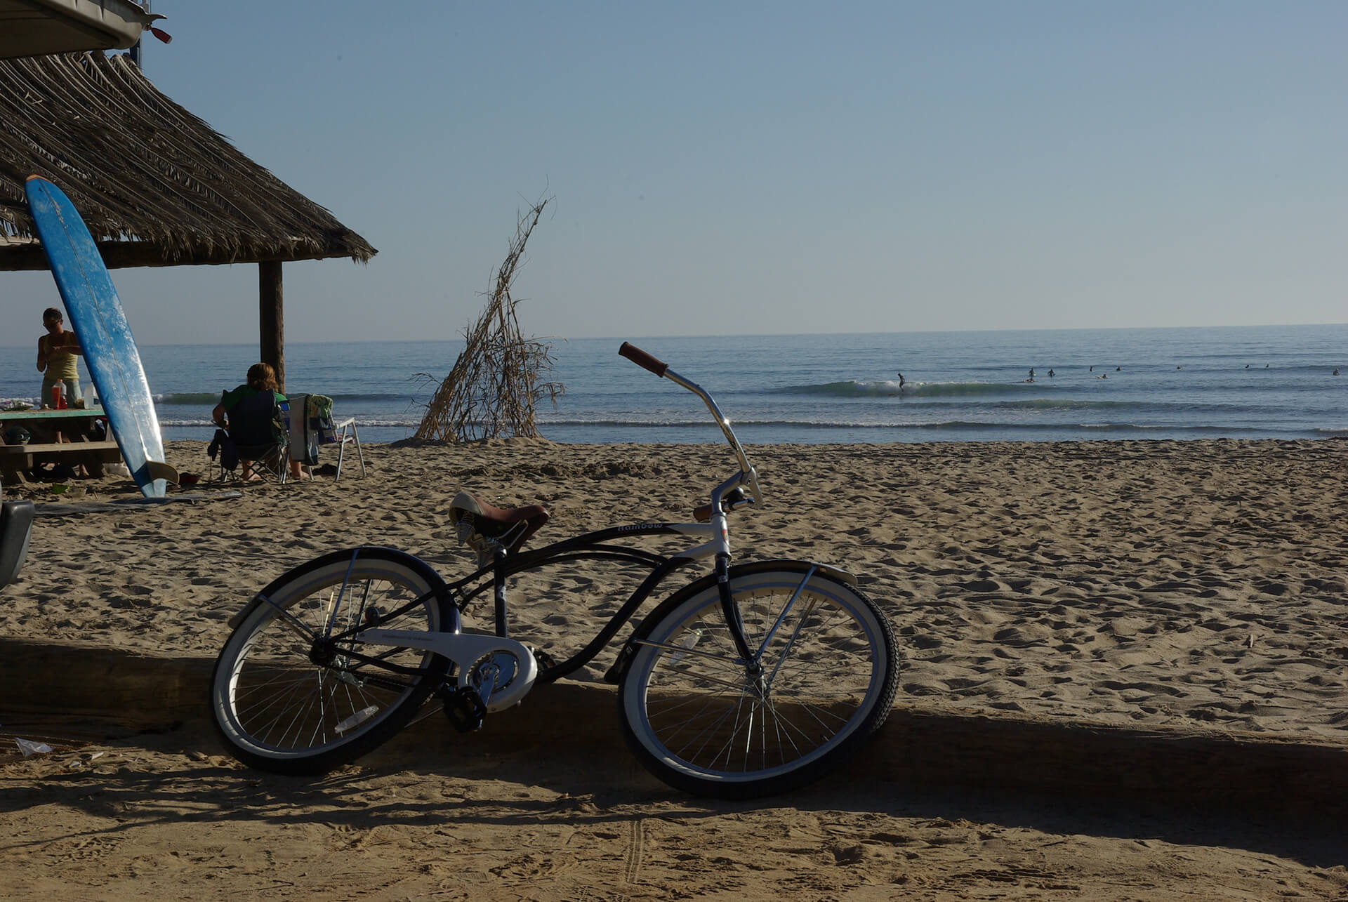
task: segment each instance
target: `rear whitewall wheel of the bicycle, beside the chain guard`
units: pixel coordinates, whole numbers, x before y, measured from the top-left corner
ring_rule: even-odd
[[[443,585],[419,558],[383,547],[333,551],[272,581],[241,615],[210,675],[216,729],[235,758],[279,774],[322,774],[349,763],[406,727],[449,669],[430,651],[361,647],[355,639],[333,647],[330,663],[321,665],[310,657],[311,636],[278,608],[315,632],[325,622],[340,632],[368,622],[371,607],[387,616],[426,596],[379,627],[457,630],[457,611],[439,600]],[[352,650],[417,673],[391,674],[342,657]]]

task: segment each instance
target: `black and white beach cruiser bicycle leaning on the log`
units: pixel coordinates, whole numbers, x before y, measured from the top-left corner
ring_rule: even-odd
[[[549,518],[543,507],[497,508],[460,492],[450,519],[480,562],[462,578],[446,582],[421,558],[369,546],[297,566],[231,619],[212,674],[214,723],[239,760],[325,773],[433,712],[431,698],[473,731],[535,684],[584,667],[667,577],[708,560],[713,572],[655,605],[605,674],[651,773],[698,795],[767,795],[824,775],[880,728],[899,670],[886,615],[826,564],[731,564],[728,515],[762,500],[744,449],[706,391],[627,342],[619,353],[698,395],[735,452],[739,472],[712,489],[697,522],[616,526],[524,550]],[[674,554],[630,545],[655,535],[696,545]],[[646,576],[589,644],[557,662],[507,635],[512,577],[597,561]],[[469,630],[470,607],[488,597],[495,628]]]

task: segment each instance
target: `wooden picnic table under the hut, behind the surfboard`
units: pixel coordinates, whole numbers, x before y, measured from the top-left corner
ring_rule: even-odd
[[[105,417],[101,407],[67,410],[0,411],[0,479],[24,481],[24,472],[38,464],[84,465],[90,476],[102,476],[104,464],[121,460],[121,450],[109,434],[104,441],[89,438],[93,421]],[[20,426],[31,438],[9,444],[7,434]]]

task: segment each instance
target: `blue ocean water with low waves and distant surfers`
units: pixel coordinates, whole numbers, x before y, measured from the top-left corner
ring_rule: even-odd
[[[1348,435],[1348,325],[632,342],[710,391],[745,444]],[[619,357],[620,344],[553,340],[553,378],[566,394],[555,410],[539,407],[545,437],[721,441],[697,398]],[[361,441],[395,441],[415,431],[461,347],[291,344],[287,388],[332,396],[336,415],[357,418]],[[164,438],[208,440],[210,409],[243,382],[256,347],[147,345],[140,355]],[[0,348],[0,399],[36,396],[35,356]],[[82,364],[81,376],[88,390]]]

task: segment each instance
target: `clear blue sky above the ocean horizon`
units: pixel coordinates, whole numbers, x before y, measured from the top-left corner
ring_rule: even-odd
[[[379,248],[286,266],[287,341],[457,337],[541,196],[541,336],[1348,318],[1348,3],[154,11],[155,85]],[[255,266],[113,279],[144,344],[256,340]]]

